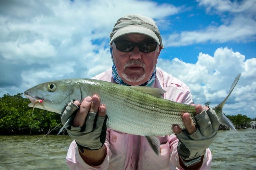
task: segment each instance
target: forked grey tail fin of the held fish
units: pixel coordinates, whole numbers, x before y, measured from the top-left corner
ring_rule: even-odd
[[[220,124],[225,125],[225,126],[231,128],[231,129],[235,130],[235,131],[237,131],[236,128],[234,127],[233,123],[223,114],[222,108],[223,108],[224,104],[226,103],[226,101],[228,100],[228,97],[230,96],[231,92],[235,88],[235,86],[236,86],[236,84],[237,84],[237,82],[239,80],[240,75],[241,74],[238,74],[236,76],[236,79],[234,80],[232,86],[229,89],[228,96],[218,106],[213,108],[213,110],[218,115]]]

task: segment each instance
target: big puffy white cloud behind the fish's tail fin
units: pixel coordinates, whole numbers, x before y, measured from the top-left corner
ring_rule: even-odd
[[[203,105],[211,102],[212,107],[225,99],[235,77],[241,73],[240,80],[224,110],[232,110],[232,114],[251,114],[253,117],[254,113],[245,108],[255,107],[255,61],[256,58],[245,60],[244,55],[225,47],[216,49],[214,56],[201,52],[195,64],[185,63],[177,58],[159,58],[158,66],[184,81],[190,87],[195,103]],[[239,107],[236,106],[237,103]],[[237,107],[239,109],[234,109]],[[245,111],[248,113],[241,113]]]

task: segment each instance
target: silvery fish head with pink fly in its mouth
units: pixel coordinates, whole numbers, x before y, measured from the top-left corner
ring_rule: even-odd
[[[61,114],[71,100],[74,86],[68,80],[57,80],[36,85],[24,92],[31,103],[29,107]],[[80,99],[79,99],[80,100]]]

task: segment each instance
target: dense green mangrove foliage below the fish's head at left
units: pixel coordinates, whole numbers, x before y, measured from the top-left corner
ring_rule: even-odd
[[[56,113],[35,108],[32,114],[29,103],[22,93],[0,98],[0,134],[46,133],[61,123]]]

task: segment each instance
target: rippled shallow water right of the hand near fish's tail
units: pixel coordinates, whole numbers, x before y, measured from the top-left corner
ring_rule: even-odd
[[[214,170],[256,170],[256,129],[219,131],[210,149]]]

